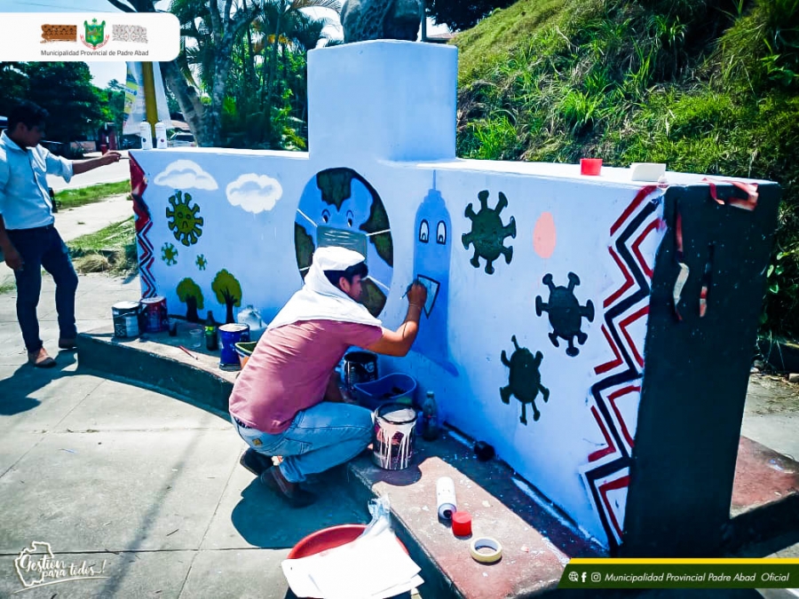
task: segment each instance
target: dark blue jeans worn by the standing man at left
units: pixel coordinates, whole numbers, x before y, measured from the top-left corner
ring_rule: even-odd
[[[56,311],[62,339],[74,338],[75,290],[77,275],[69,261],[67,246],[52,225],[36,229],[12,229],[7,232],[14,248],[20,252],[25,266],[14,271],[17,280],[17,320],[28,351],[42,349],[36,306],[42,292],[42,269],[50,272],[56,284]]]

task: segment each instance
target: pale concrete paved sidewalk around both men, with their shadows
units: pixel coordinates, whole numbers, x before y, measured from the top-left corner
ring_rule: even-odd
[[[39,314],[54,351],[52,289],[45,277]],[[107,323],[111,304],[138,290],[138,280],[81,276],[79,329]],[[49,371],[26,366],[13,302],[0,296],[0,596],[23,588],[14,560],[37,541],[75,567],[105,564],[108,578],[13,596],[282,598],[289,548],[368,519],[343,469],[317,482],[318,504],[289,510],[238,465],[245,445],[224,418],[79,374],[72,351]]]

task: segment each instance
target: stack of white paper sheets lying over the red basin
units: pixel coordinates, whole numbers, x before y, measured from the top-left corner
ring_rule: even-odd
[[[297,597],[385,599],[423,584],[391,530],[281,564]]]

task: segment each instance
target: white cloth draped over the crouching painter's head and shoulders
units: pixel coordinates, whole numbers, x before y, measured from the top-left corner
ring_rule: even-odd
[[[303,288],[291,296],[268,328],[284,327],[302,320],[337,320],[381,327],[383,323],[372,316],[366,306],[347,296],[325,276],[325,271],[344,271],[364,260],[352,249],[317,249]]]

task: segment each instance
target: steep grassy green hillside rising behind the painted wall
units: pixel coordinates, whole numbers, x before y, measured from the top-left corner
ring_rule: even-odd
[[[453,43],[460,156],[779,182],[763,327],[799,338],[799,0],[519,0]]]

